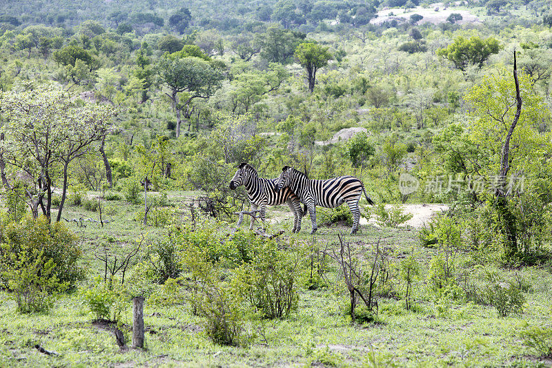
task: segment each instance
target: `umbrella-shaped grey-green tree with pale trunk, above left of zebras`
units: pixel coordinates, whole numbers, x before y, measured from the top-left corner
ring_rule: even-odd
[[[163,84],[168,86],[172,110],[177,117],[176,136],[180,136],[182,113],[184,118],[191,116],[190,103],[193,99],[207,99],[220,87],[223,76],[199,57],[179,57],[165,54],[159,60],[157,72]],[[179,95],[181,94],[181,95]],[[181,97],[184,99],[181,101]]]

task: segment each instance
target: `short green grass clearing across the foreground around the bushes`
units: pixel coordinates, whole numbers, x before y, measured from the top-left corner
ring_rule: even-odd
[[[170,202],[186,200],[182,193],[170,193]],[[141,234],[155,238],[165,229],[144,229],[132,216],[141,206],[115,201],[117,215],[103,228],[88,222],[69,227],[83,239],[83,261],[88,270],[86,284],[101,274],[101,264],[94,250],[102,242],[125,251]],[[184,208],[182,209],[184,211]],[[286,218],[284,207],[270,211],[273,218]],[[96,218],[97,213],[71,206],[66,218]],[[243,224],[246,228],[248,225]],[[303,223],[302,233],[294,236],[311,242],[310,225]],[[288,220],[273,225],[271,231],[286,229]],[[341,226],[319,229],[317,244],[332,246],[337,233],[348,233]],[[368,325],[351,325],[344,316],[348,299],[336,293],[341,280],[335,267],[328,273],[326,289],[299,293],[299,309],[288,320],[247,322],[247,347],[220,347],[206,338],[201,318],[193,316],[186,300],[175,304],[152,304],[146,300],[145,351],[119,351],[110,325],[93,323],[94,316],[81,305],[77,293],[63,296],[48,314],[20,315],[8,295],[0,293],[0,365],[13,367],[44,366],[545,366],[551,360],[539,358],[526,347],[520,331],[526,325],[549,325],[552,313],[552,282],[548,270],[527,268],[501,270],[515,273],[531,284],[521,315],[499,318],[495,308],[454,300],[437,300],[426,291],[428,264],[436,249],[422,248],[413,229],[380,229],[363,226],[362,233],[346,240],[355,247],[368,249],[380,239],[382,249],[393,260],[413,254],[422,266],[422,274],[414,286],[414,311],[404,309],[401,298],[381,299],[378,319]],[[468,260],[467,255],[462,256]],[[400,289],[400,286],[398,287]],[[130,302],[121,315],[126,340],[131,338],[132,311]],[[46,356],[34,349],[41,345],[59,356]]]

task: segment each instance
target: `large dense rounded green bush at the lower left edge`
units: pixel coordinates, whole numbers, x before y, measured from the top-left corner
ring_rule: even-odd
[[[82,278],[77,238],[61,223],[46,217],[10,222],[1,227],[1,240],[0,280],[21,313],[47,311]]]

